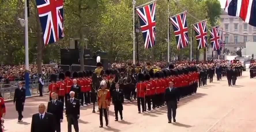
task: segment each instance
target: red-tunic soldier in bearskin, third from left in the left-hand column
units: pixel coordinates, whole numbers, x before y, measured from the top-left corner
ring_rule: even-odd
[[[67,100],[70,98],[69,92],[70,92],[71,86],[73,85],[73,81],[70,79],[70,76],[71,76],[70,71],[66,71],[65,72],[66,79],[64,80],[64,82],[67,86],[66,89],[64,90],[65,91],[65,104],[67,104]]]

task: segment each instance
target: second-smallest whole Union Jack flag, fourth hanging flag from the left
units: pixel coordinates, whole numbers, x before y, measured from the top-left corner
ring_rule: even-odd
[[[195,37],[197,41],[197,49],[207,47],[207,27],[206,21],[199,22],[194,25]]]

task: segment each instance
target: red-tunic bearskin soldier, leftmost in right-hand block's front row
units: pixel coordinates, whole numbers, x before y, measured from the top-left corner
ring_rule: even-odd
[[[144,75],[142,73],[138,73],[138,83],[136,85],[136,90],[137,91],[137,105],[138,105],[138,113],[141,112],[140,109],[140,104],[142,105],[142,112],[145,111],[145,93],[147,89],[147,84],[143,82],[144,80]]]

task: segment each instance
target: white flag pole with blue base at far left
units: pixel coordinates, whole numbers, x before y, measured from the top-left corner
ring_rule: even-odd
[[[25,0],[25,88],[26,96],[31,96],[29,90],[29,35],[28,35],[28,5]]]

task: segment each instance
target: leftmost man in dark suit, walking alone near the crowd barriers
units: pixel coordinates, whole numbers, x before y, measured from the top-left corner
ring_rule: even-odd
[[[24,109],[24,103],[26,98],[26,90],[22,87],[22,82],[18,82],[18,88],[15,89],[13,104],[15,104],[16,110],[18,111],[18,122],[22,121],[22,111]]]

